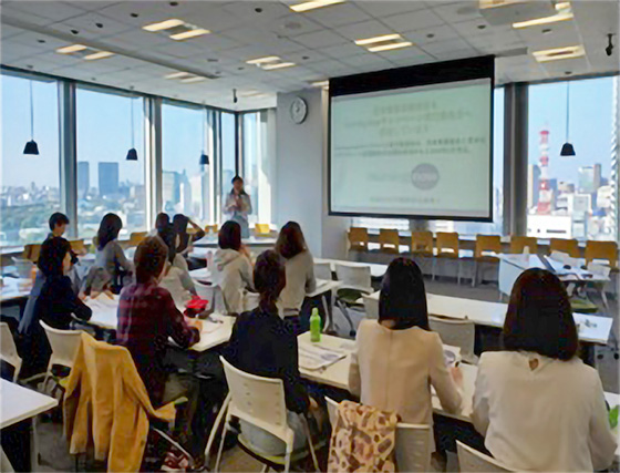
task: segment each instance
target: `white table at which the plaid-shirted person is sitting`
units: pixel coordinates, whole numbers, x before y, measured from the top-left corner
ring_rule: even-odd
[[[93,309],[90,323],[106,330],[116,330],[118,296],[114,296],[114,299],[108,299],[107,296],[100,295],[96,299],[86,300],[86,306]],[[189,347],[189,349],[202,352],[226,343],[230,340],[234,325],[234,317],[211,313],[208,319],[203,321],[200,341]]]

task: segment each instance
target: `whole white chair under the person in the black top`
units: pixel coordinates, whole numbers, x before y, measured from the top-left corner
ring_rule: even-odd
[[[262,378],[246,373],[235,368],[226,361],[224,357],[219,357],[219,359],[224,366],[224,373],[226,374],[226,381],[228,382],[230,402],[228,404],[228,411],[226,412],[226,421],[224,423],[225,432],[221,435],[214,471],[219,471],[219,462],[221,460],[221,451],[224,448],[224,440],[226,438],[225,433],[230,430],[231,419],[237,418],[259,429],[266,430],[286,444],[285,456],[266,457],[244,442],[242,433],[239,436],[239,446],[241,446],[241,449],[248,454],[266,464],[266,469],[264,471],[277,465],[282,466],[285,473],[287,473],[289,471],[293,453],[294,432],[287,422],[287,405],[285,402],[285,385],[282,380]],[[304,426],[308,446],[310,454],[312,455],[316,471],[320,471],[317,455],[314,453],[314,446],[312,445],[312,439],[310,436],[310,430],[306,422]],[[302,453],[301,457],[304,457],[307,452]],[[294,460],[301,460],[301,457],[296,457]]]

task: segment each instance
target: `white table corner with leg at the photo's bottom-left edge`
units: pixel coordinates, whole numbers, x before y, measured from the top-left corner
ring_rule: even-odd
[[[38,470],[39,449],[34,417],[58,405],[58,400],[23,388],[7,380],[0,380],[0,429],[32,419],[30,431],[30,466]]]

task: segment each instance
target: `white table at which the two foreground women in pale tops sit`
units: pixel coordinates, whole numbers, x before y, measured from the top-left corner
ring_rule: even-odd
[[[312,343],[310,341],[309,332],[301,333],[298,337],[298,341],[300,346],[302,343]],[[331,388],[338,388],[344,391],[349,391],[349,371],[351,368],[351,353],[355,349],[354,341],[328,335],[321,335],[321,341],[316,345],[318,345],[319,347],[324,347],[327,349],[345,351],[347,356],[330,364],[329,367],[320,370],[308,370],[300,366],[299,371],[301,376],[318,384],[324,384]],[[463,373],[463,401],[461,404],[461,412],[457,414],[453,414],[445,411],[434,390],[432,395],[433,411],[444,417],[453,418],[464,422],[472,422],[473,399],[478,368],[474,364],[467,363],[461,363],[459,368],[461,372]],[[619,394],[606,392],[604,398],[610,409],[620,404]],[[618,462],[620,459],[620,434],[618,426],[613,429],[613,433],[619,440],[619,446],[616,450],[616,461]]]

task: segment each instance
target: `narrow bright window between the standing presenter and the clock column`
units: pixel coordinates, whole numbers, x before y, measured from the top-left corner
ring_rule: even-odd
[[[268,130],[269,111],[242,115],[242,169],[246,192],[252,202],[250,224],[271,222],[272,154]]]

